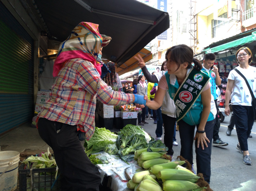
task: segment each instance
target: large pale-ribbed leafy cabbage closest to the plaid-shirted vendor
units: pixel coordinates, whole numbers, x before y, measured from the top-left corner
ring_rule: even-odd
[[[86,151],[92,149],[91,153],[103,151],[108,144],[116,143],[117,135],[106,128],[95,127],[94,134],[89,141],[85,140]]]

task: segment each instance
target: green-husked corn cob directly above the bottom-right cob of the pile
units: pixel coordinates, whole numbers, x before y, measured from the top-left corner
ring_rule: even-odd
[[[163,169],[157,173],[157,177],[164,180],[188,180],[188,179],[199,179],[199,176],[191,174],[187,171],[177,169]]]

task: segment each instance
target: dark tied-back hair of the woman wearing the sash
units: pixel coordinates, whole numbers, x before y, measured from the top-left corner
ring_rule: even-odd
[[[183,64],[184,62],[188,62],[188,67],[187,68],[192,68],[194,67],[196,70],[201,70],[202,69],[202,64],[199,60],[193,58],[193,50],[192,48],[188,47],[185,44],[180,44],[173,46],[169,48],[166,51],[165,54],[165,59],[168,61],[167,55],[171,53],[171,59],[173,62],[176,62],[178,65],[177,70],[180,68],[180,64]],[[192,66],[192,62],[194,63],[194,66]]]

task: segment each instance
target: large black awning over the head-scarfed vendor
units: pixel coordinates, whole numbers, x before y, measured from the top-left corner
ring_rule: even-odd
[[[119,67],[170,27],[169,14],[136,0],[35,0],[48,33],[68,38],[80,22],[99,24],[112,37],[102,56]],[[56,40],[55,39],[55,40]]]

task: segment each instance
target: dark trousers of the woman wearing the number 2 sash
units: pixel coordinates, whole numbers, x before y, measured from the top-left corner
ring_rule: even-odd
[[[208,147],[204,145],[203,150],[201,144],[199,144],[199,148],[197,148],[197,140],[195,141],[197,173],[203,173],[204,180],[208,183],[210,183],[211,177],[212,133],[214,123],[215,119],[207,121],[204,127],[206,137],[210,140],[210,143],[206,142]],[[180,120],[178,125],[181,145],[180,155],[187,159],[190,164],[193,164],[193,142],[196,126],[189,125],[183,120]]]

